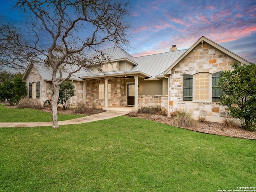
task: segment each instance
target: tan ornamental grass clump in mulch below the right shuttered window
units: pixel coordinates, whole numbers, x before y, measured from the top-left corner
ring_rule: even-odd
[[[177,127],[194,127],[196,120],[194,120],[190,113],[184,110],[177,110],[175,116],[172,118],[172,123]]]

